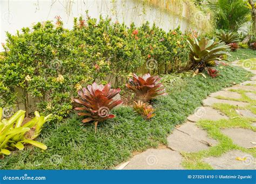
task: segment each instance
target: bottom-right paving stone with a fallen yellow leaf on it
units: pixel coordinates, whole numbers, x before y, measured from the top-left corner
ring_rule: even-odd
[[[221,157],[208,157],[203,161],[210,164],[214,169],[255,169],[255,159],[252,155],[238,150],[227,152]]]

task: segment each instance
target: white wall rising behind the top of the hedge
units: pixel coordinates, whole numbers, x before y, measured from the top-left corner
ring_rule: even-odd
[[[187,28],[185,19],[152,6],[143,6],[139,1],[115,1],[113,4],[112,0],[0,0],[0,41],[5,43],[5,31],[15,34],[16,30],[31,27],[32,23],[55,20],[57,15],[62,17],[66,28],[71,28],[73,18],[85,16],[85,10],[89,10],[91,17],[98,18],[102,14],[127,25],[131,22],[139,25],[148,20],[151,23],[156,22],[164,30],[174,29],[178,25],[183,31]]]

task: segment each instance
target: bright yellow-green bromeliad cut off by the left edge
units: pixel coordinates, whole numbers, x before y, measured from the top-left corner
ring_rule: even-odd
[[[46,121],[46,117],[40,116],[39,112],[35,112],[35,117],[31,121],[24,123],[25,111],[19,110],[9,119],[2,119],[3,108],[0,108],[0,157],[11,154],[11,151],[23,150],[24,144],[31,144],[33,146],[47,149],[42,143],[35,141]],[[33,131],[32,131],[33,129]]]

